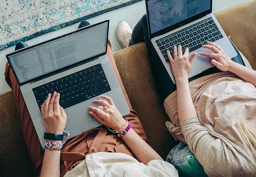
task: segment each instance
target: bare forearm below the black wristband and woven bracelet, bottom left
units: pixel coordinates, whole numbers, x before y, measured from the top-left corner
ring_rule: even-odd
[[[59,177],[60,176],[60,150],[44,151],[44,160],[40,177]]]

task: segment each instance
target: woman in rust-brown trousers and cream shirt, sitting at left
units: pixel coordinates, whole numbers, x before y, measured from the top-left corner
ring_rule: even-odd
[[[89,23],[83,21],[79,28],[87,25]],[[25,43],[18,43],[15,50],[26,46]],[[24,141],[35,167],[35,175],[40,175],[41,177],[64,175],[65,177],[177,177],[178,173],[174,166],[163,161],[146,143],[146,134],[137,117],[137,113],[132,110],[117,70],[109,41],[107,55],[130,108],[130,113],[122,117],[112,99],[102,95],[101,97],[105,100],[95,100],[94,102],[102,104],[105,109],[101,106],[85,109],[88,109],[88,112],[90,111],[89,113],[105,126],[88,130],[67,140],[61,150],[51,148],[42,150],[18,82],[9,63],[6,63],[5,80],[14,92]],[[67,118],[72,118],[67,117],[63,108],[60,107],[59,98],[59,93],[48,94],[41,108],[44,125],[48,133],[62,134]],[[119,134],[121,137],[118,137],[116,132],[112,133],[106,126],[113,128],[116,132],[124,130],[123,134]],[[60,141],[48,141],[56,144],[60,143]]]

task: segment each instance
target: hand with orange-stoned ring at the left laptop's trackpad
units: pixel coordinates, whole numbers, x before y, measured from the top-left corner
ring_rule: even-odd
[[[96,120],[98,120],[99,123],[119,131],[125,125],[125,119],[117,110],[113,100],[110,97],[105,95],[101,95],[100,97],[108,100],[108,102],[105,100],[94,100],[93,102],[107,106],[108,109],[106,109],[104,112],[104,108],[102,106],[98,106],[97,108],[90,106],[89,109],[91,111],[89,113]]]

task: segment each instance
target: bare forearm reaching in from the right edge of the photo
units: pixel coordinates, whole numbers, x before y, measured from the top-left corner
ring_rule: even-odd
[[[239,63],[233,63],[229,71],[240,77],[242,80],[253,84],[256,87],[256,71],[247,68]]]

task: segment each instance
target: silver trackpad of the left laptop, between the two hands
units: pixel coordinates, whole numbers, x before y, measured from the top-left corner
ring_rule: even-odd
[[[99,98],[96,97],[81,104],[77,104],[71,108],[65,109],[67,114],[66,127],[71,136],[101,125],[93,116],[89,114],[89,106],[100,106],[100,104],[93,103],[94,100],[98,99]]]

